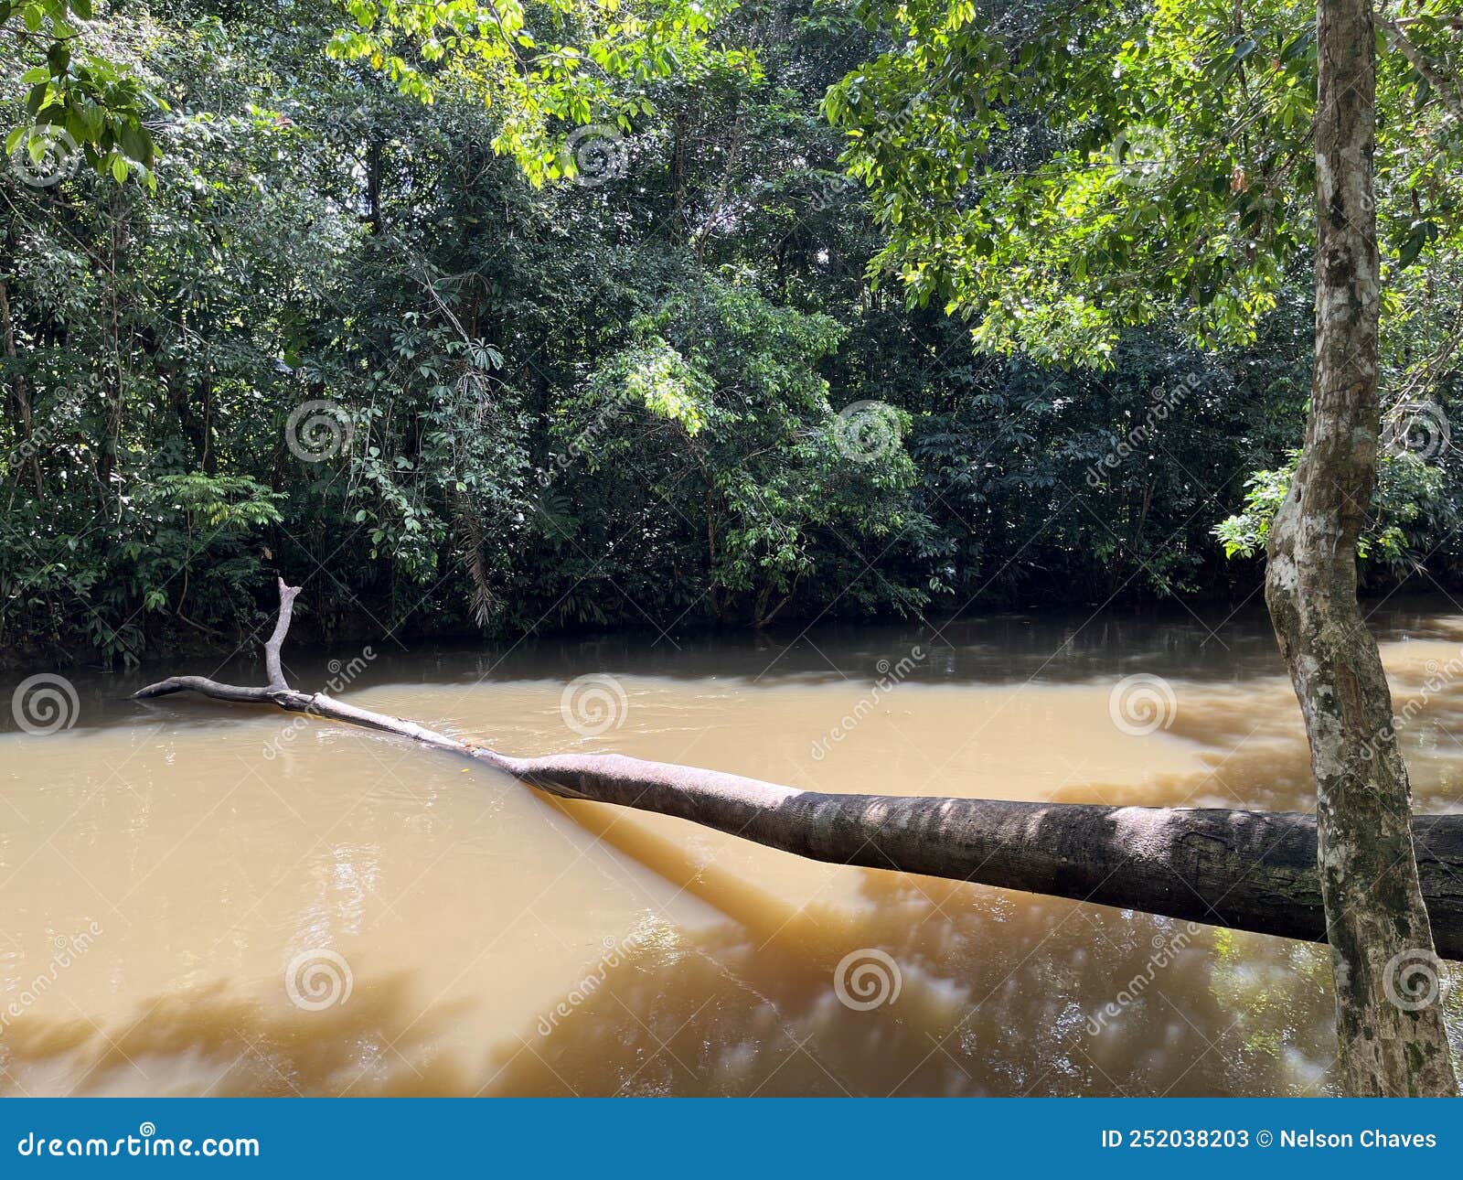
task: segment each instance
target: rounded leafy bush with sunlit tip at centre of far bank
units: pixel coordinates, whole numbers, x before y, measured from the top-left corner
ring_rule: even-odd
[[[652,511],[674,512],[673,552],[650,561],[699,568],[717,618],[761,625],[799,586],[834,581],[822,575],[840,545],[857,553],[901,527],[914,470],[898,445],[870,461],[841,449],[816,365],[843,329],[774,305],[748,278],[707,275],[638,318],[639,340],[568,403],[559,436],[576,441],[601,488],[648,485]],[[925,596],[884,583],[856,589],[854,602]]]

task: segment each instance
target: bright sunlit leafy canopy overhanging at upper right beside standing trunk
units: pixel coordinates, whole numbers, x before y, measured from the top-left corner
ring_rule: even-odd
[[[872,9],[892,47],[828,94],[890,228],[875,269],[992,351],[1102,365],[1122,328],[1170,319],[1206,346],[1252,343],[1314,237],[1315,6],[989,7]],[[1463,12],[1426,9],[1438,41]],[[1399,51],[1378,94],[1388,269],[1441,268],[1463,244],[1459,97]]]

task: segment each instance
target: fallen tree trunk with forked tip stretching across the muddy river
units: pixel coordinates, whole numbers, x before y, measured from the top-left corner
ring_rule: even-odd
[[[361,725],[470,757],[550,795],[674,815],[815,861],[1325,941],[1314,815],[831,795],[620,754],[515,758],[413,720],[290,688],[278,669],[294,589],[281,581],[279,593],[281,624],[266,644],[274,684],[244,688],[171,676],[133,695],[200,692]],[[1463,959],[1463,815],[1419,815],[1412,827],[1438,953]]]

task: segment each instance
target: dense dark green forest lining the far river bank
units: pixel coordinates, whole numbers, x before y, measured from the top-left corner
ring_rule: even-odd
[[[990,97],[999,120],[939,110],[876,12],[743,3],[695,56],[606,83],[613,114],[572,97],[568,119],[484,105],[420,45],[376,69],[342,25],[329,0],[114,4],[92,44],[130,69],[104,81],[146,107],[146,136],[123,120],[98,132],[105,151],[9,145],[9,653],[227,651],[268,616],[277,572],[306,584],[300,627],[320,637],[1257,587],[1309,381],[1304,227],[1274,227],[1280,264],[1246,278],[1274,305],[1254,332],[1198,347],[1195,322],[1213,325],[1195,309],[1225,310],[1200,268],[1100,325],[1099,348],[1075,312],[1008,351],[989,275],[1012,259],[941,272],[942,228],[901,205],[884,154],[932,184],[970,149],[949,129],[976,129],[982,158],[1023,176],[1110,127],[1023,105],[1015,85]],[[1255,44],[1304,57],[1282,25]],[[40,60],[20,28],[0,32],[7,126]],[[1115,184],[1189,158],[1144,151],[1119,151]],[[1404,180],[1394,205],[1413,212],[1394,209],[1387,249],[1416,264],[1397,297],[1428,312],[1397,316],[1388,346],[1402,417],[1372,589],[1463,568],[1444,436],[1463,275],[1456,221],[1434,212],[1456,212],[1457,177]],[[1030,214],[1028,192],[1002,192],[983,208]],[[1141,202],[1113,208],[1002,249],[1040,290],[1072,239],[1110,261],[1172,236]]]

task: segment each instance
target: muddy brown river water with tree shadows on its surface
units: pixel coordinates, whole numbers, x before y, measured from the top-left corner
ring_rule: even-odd
[[[1372,624],[1416,810],[1460,811],[1463,613],[1413,600]],[[285,665],[297,688],[514,754],[1314,807],[1249,610],[388,641]],[[265,679],[193,659],[4,682],[0,1094],[1331,1092],[1324,947],[811,864],[360,729],[127,700],[173,672]],[[1460,994],[1444,987],[1456,1032]]]

